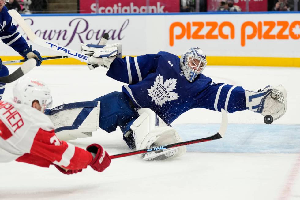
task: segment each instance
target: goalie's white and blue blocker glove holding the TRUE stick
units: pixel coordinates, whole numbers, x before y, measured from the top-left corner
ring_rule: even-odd
[[[122,58],[122,44],[114,43],[108,45],[81,44],[81,53],[89,55],[88,67],[93,70],[98,66],[109,69],[116,57]]]

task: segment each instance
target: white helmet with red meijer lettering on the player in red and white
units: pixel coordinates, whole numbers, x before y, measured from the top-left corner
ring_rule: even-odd
[[[40,106],[45,108],[52,106],[50,89],[42,81],[27,77],[13,86],[14,102],[32,106],[34,100],[38,100]]]

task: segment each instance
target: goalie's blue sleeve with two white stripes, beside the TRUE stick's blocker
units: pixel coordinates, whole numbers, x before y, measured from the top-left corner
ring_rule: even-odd
[[[160,55],[146,54],[137,57],[116,58],[107,72],[107,76],[127,84],[136,84],[148,74],[155,72]]]

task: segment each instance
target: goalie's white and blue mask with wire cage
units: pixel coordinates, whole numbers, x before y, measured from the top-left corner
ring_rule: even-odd
[[[180,58],[180,67],[189,82],[193,82],[201,74],[206,64],[206,56],[200,48],[190,48]]]

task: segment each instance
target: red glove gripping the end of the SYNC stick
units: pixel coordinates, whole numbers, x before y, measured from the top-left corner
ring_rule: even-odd
[[[90,165],[94,170],[98,172],[102,172],[105,168],[109,166],[111,163],[111,157],[108,155],[108,153],[103,149],[102,146],[98,144],[91,144],[89,145],[86,150],[88,152],[91,152],[94,156],[94,159],[92,162],[88,165]]]

